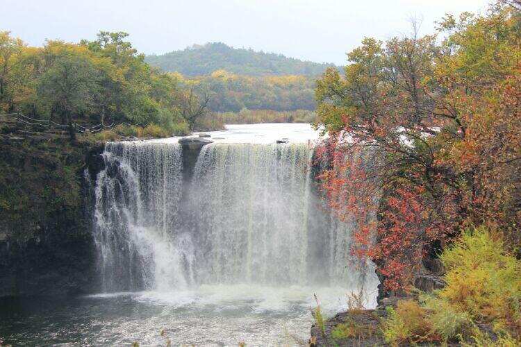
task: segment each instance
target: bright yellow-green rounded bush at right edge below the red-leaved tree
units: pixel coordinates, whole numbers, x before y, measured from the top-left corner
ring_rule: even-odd
[[[443,252],[447,285],[437,296],[472,319],[521,330],[521,262],[486,228],[463,232]]]

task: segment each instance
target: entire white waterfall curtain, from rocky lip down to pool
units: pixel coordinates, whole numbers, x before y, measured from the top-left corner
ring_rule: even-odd
[[[181,153],[175,143],[107,144],[94,208],[104,291],[374,289],[374,268],[353,265],[354,226],[335,221],[317,194],[311,146],[207,144],[190,182]]]

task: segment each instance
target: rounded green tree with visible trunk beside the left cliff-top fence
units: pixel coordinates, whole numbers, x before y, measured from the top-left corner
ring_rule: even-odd
[[[67,45],[60,47],[51,67],[38,81],[38,94],[52,110],[67,119],[72,142],[76,139],[73,119],[92,107],[97,81],[98,72],[88,56]]]

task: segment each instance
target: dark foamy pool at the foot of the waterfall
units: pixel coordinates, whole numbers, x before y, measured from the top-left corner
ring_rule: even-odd
[[[322,310],[345,309],[347,289],[203,285],[197,290],[79,298],[0,299],[0,344],[13,346],[298,346],[316,293]],[[369,303],[374,305],[374,303]],[[163,332],[163,335],[161,334]]]

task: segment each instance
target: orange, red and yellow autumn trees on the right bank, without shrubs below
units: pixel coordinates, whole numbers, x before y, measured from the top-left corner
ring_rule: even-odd
[[[377,262],[387,291],[412,285],[465,228],[520,249],[520,28],[521,3],[498,1],[484,15],[447,15],[432,35],[413,25],[406,37],[367,37],[343,74],[318,81],[318,123],[352,135],[324,149],[336,169],[323,186],[340,218],[358,221],[355,251]]]

